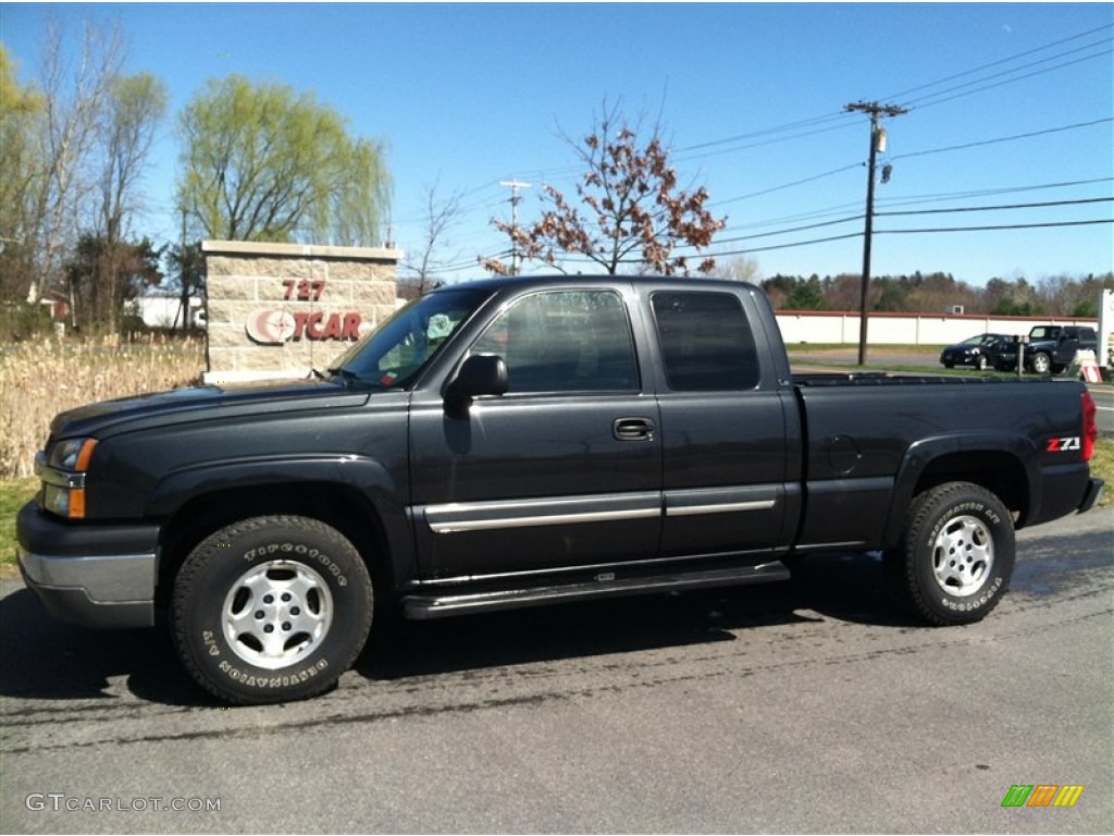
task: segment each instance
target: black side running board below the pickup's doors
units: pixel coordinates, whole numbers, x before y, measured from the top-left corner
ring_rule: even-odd
[[[421,621],[439,619],[444,615],[514,610],[563,601],[587,601],[595,597],[637,595],[647,592],[769,583],[771,581],[788,581],[789,577],[789,568],[781,561],[760,563],[756,566],[717,568],[673,575],[615,579],[608,574],[599,576],[599,580],[535,586],[526,590],[518,587],[456,595],[407,595],[402,599],[402,613],[407,619]]]

